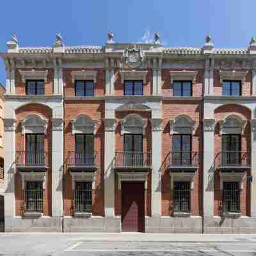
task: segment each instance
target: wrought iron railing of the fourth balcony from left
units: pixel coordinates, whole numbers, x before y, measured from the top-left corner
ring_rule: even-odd
[[[170,152],[169,168],[196,168],[198,166],[198,152],[173,151]]]

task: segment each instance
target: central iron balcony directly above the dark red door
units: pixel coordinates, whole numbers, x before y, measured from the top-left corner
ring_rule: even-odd
[[[114,168],[121,172],[145,172],[152,168],[151,152],[115,152]]]

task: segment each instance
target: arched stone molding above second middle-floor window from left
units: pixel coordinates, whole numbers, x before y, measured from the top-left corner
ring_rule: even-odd
[[[71,121],[72,134],[87,133],[96,134],[98,121],[86,114],[78,115]]]

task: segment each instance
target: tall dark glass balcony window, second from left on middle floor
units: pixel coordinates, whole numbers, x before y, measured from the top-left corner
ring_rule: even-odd
[[[94,164],[94,136],[93,134],[76,134],[76,164]]]

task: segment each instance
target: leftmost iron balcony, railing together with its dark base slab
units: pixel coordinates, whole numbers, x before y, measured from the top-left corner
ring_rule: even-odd
[[[48,157],[46,152],[16,152],[16,168],[20,172],[45,172],[48,168]]]

